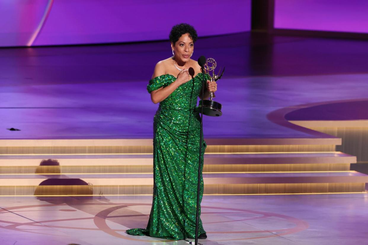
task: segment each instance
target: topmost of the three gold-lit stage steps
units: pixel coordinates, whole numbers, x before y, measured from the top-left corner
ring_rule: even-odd
[[[331,152],[340,138],[220,138],[206,139],[206,153]],[[152,139],[0,140],[3,154],[149,154]]]

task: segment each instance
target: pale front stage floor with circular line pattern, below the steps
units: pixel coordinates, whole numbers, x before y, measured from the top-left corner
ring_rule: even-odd
[[[368,194],[205,195],[202,244],[366,244]],[[187,244],[125,234],[145,227],[150,196],[0,197],[1,245]],[[193,241],[194,239],[187,239]]]

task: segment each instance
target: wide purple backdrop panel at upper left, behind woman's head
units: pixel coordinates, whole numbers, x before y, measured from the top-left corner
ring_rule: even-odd
[[[0,46],[43,46],[168,39],[173,25],[199,36],[250,30],[251,1],[2,1]]]

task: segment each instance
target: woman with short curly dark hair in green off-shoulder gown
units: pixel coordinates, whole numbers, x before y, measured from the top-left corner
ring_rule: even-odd
[[[201,126],[195,107],[197,97],[202,95],[201,67],[190,58],[196,40],[197,32],[191,25],[173,26],[170,32],[173,56],[156,64],[147,85],[152,102],[160,102],[153,119],[153,202],[147,228],[127,230],[130,235],[172,240],[195,237]],[[205,76],[204,97],[208,98],[210,91],[217,90],[217,84]],[[200,201],[205,148],[203,141]],[[198,238],[207,238],[200,219],[198,234]]]

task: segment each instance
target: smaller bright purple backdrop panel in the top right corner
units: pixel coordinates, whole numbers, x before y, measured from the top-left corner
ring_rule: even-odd
[[[275,0],[274,27],[368,33],[368,1]]]

